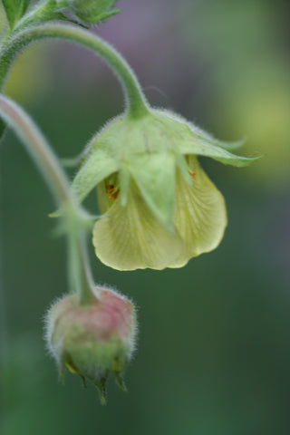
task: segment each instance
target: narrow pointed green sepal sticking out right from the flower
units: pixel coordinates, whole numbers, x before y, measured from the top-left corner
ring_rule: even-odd
[[[198,135],[194,135],[192,140],[184,140],[179,144],[179,150],[182,154],[195,154],[199,156],[211,157],[226,165],[237,167],[247,166],[260,160],[263,156],[257,157],[242,157],[232,154],[225,148],[210,143],[208,140],[203,140]]]

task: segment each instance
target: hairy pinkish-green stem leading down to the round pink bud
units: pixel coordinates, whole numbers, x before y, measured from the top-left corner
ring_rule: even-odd
[[[0,115],[14,129],[43,174],[63,211],[63,225],[69,237],[69,277],[73,293],[87,304],[98,295],[92,282],[85,243],[87,217],[71,194],[69,182],[48,142],[34,121],[15,102],[0,95]]]

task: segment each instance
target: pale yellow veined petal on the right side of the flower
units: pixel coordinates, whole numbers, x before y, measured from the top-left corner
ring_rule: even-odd
[[[195,180],[189,186],[178,175],[173,218],[184,250],[169,267],[184,266],[191,257],[218,247],[227,226],[225,200],[194,156],[189,156],[189,169]]]

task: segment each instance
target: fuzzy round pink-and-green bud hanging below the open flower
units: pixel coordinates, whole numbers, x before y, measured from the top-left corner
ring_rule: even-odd
[[[131,359],[136,332],[133,304],[100,287],[98,298],[80,305],[78,295],[64,296],[46,315],[46,340],[59,371],[65,367],[92,381],[105,402],[105,382],[113,372],[124,389],[122,373]]]

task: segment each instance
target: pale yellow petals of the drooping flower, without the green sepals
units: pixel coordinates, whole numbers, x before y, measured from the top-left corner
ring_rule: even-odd
[[[99,202],[106,217],[95,223],[92,239],[102,263],[119,270],[181,267],[218,247],[227,225],[224,198],[193,156],[189,170],[195,174],[190,183],[177,173],[173,230],[154,216],[136,184],[122,206],[117,177],[102,181]]]

